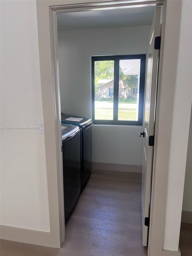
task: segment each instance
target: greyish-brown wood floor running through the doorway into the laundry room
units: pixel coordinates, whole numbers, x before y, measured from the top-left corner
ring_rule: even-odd
[[[146,256],[141,174],[93,170],[66,225],[62,248],[1,240],[2,256]]]

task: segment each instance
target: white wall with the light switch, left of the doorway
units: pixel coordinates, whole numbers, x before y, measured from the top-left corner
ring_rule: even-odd
[[[43,120],[35,1],[1,1],[1,126]],[[1,225],[49,231],[44,134],[1,129]]]

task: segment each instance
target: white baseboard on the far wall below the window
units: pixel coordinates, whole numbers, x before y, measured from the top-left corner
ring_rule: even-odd
[[[92,166],[91,167],[94,170],[107,170],[107,171],[120,171],[120,172],[129,172],[129,173],[142,173],[142,165],[111,164],[111,163],[92,162]]]

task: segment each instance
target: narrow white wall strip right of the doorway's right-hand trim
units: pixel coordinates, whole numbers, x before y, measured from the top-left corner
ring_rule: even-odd
[[[168,5],[167,8],[170,8],[170,5]],[[179,245],[184,176],[192,100],[192,56],[191,51],[189,50],[191,44],[190,42],[192,40],[190,29],[192,17],[191,10],[192,2],[182,1],[179,32],[179,51],[170,144],[166,222],[163,245],[164,249],[172,251],[177,251]],[[172,13],[174,15],[174,6]],[[183,92],[186,92],[184,97],[182,96]]]

